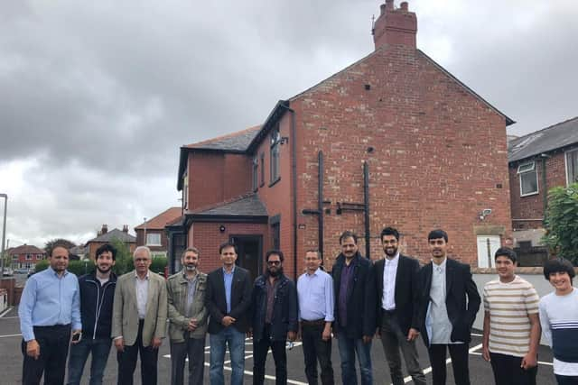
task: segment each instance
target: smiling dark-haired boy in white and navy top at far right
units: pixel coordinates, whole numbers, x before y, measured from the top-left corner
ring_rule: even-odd
[[[572,263],[564,258],[546,261],[544,277],[555,291],[540,300],[540,323],[554,353],[559,385],[578,384],[578,290],[573,288]]]

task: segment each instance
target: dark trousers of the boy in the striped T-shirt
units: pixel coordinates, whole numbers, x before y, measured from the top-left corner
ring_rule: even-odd
[[[536,385],[538,367],[524,370],[520,367],[522,357],[489,353],[489,359],[491,369],[494,371],[496,385]]]

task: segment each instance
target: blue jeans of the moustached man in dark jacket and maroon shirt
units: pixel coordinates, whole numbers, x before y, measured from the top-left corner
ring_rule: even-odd
[[[358,377],[355,372],[355,354],[358,355],[361,384],[371,385],[371,342],[363,344],[361,338],[349,338],[344,333],[338,333],[337,343],[340,348],[341,382],[348,385],[357,385]]]

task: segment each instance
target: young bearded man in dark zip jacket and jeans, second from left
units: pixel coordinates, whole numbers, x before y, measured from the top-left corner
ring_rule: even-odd
[[[70,347],[69,385],[78,385],[92,353],[90,385],[102,384],[110,353],[112,304],[117,276],[112,272],[117,250],[106,243],[97,250],[97,270],[79,278],[82,339]]]

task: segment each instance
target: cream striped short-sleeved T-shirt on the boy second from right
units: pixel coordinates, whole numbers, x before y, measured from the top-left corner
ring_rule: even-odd
[[[516,276],[508,283],[490,280],[483,291],[489,312],[489,351],[524,357],[530,348],[530,318],[538,313],[540,298],[527,280]]]

